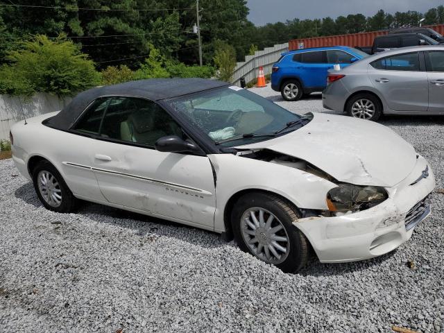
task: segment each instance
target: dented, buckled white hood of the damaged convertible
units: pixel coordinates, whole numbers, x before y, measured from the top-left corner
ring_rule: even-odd
[[[298,157],[341,182],[392,187],[416,164],[411,146],[390,128],[373,121],[314,114],[304,127],[287,135],[239,149],[269,149]]]

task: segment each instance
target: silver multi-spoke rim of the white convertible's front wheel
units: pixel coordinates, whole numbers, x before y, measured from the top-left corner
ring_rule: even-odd
[[[242,214],[241,234],[250,252],[268,264],[280,264],[289,255],[287,230],[264,208],[252,207]]]

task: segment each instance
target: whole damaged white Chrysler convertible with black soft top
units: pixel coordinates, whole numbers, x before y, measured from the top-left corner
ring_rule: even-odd
[[[49,210],[78,199],[234,239],[285,272],[388,253],[430,213],[432,169],[371,121],[300,116],[216,80],[89,89],[11,129],[19,171]]]

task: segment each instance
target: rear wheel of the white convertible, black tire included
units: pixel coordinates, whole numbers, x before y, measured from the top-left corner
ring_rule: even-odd
[[[47,210],[69,213],[76,208],[78,199],[74,197],[53,164],[42,160],[37,163],[32,173],[35,193]],[[44,180],[47,185],[44,184]]]

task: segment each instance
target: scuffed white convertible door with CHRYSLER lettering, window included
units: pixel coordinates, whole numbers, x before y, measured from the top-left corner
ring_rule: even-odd
[[[212,229],[214,177],[205,155],[165,153],[154,144],[185,136],[159,105],[112,97],[91,156],[99,187],[110,203]]]

